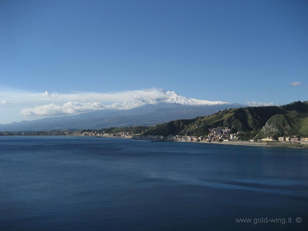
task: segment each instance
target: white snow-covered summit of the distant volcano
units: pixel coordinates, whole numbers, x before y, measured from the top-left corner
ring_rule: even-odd
[[[222,101],[209,101],[209,100],[202,100],[202,99],[193,99],[187,98],[178,94],[174,94],[172,98],[164,100],[165,103],[179,103],[182,105],[189,105],[189,106],[199,106],[199,105],[219,105],[219,104],[231,104],[228,102]]]

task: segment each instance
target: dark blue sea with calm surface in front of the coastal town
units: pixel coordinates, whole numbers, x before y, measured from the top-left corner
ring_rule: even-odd
[[[308,230],[308,150],[2,136],[0,230]]]

